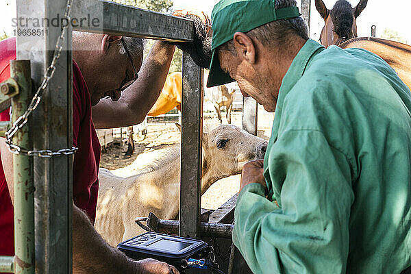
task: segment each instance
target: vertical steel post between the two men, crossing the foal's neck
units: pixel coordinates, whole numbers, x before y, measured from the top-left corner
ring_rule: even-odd
[[[198,238],[203,138],[203,69],[183,53],[179,236]]]

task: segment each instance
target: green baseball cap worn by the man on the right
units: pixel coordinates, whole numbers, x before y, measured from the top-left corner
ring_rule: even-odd
[[[249,32],[279,19],[295,18],[301,14],[297,7],[275,9],[275,0],[221,0],[214,5],[212,22],[212,59],[207,87],[234,82],[220,66],[217,47],[232,40],[236,32]]]

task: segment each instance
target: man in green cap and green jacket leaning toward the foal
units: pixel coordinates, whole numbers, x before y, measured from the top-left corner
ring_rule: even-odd
[[[242,171],[234,244],[253,273],[401,273],[411,265],[411,95],[363,49],[308,39],[295,0],[222,0],[208,86],[269,112]],[[405,273],[405,272],[403,272]]]

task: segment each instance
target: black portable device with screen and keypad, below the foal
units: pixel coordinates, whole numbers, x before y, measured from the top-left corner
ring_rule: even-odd
[[[212,246],[202,240],[146,232],[120,242],[117,249],[129,258],[160,260],[175,266],[179,271],[197,268],[224,274],[215,262]]]

